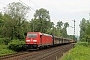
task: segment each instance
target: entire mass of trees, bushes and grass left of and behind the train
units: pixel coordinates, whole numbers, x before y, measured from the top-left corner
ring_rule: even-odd
[[[37,9],[34,18],[28,19],[30,7],[21,2],[9,3],[0,12],[0,56],[22,51],[27,32],[42,32],[64,38],[75,38],[67,34],[68,22],[51,21],[49,11]],[[76,38],[75,38],[76,39]]]

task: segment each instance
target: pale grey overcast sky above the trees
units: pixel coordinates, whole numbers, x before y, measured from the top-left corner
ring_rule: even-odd
[[[17,2],[19,0],[2,0],[0,1],[0,9],[3,9],[7,4],[11,2]],[[90,0],[21,0],[34,10],[45,8],[50,12],[51,21],[55,24],[57,21],[69,22],[70,26],[73,26],[73,21],[76,20],[75,34],[79,35],[79,24],[82,18],[89,19],[90,13]],[[20,2],[20,1],[19,1]],[[36,4],[34,4],[34,3]],[[4,3],[4,4],[2,4]],[[38,5],[38,6],[37,6]],[[31,9],[28,18],[33,18],[35,11]],[[2,10],[0,10],[2,11]],[[68,34],[73,34],[73,28],[69,27]]]

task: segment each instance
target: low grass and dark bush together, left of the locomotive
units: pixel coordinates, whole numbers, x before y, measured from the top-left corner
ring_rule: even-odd
[[[4,44],[4,40],[2,40],[2,42],[3,43],[0,44],[0,56],[24,50],[24,40],[12,40],[8,44]]]

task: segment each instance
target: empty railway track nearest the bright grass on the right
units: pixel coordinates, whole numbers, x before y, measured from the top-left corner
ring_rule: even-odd
[[[54,47],[20,60],[56,60],[71,48],[73,48],[71,44]]]

